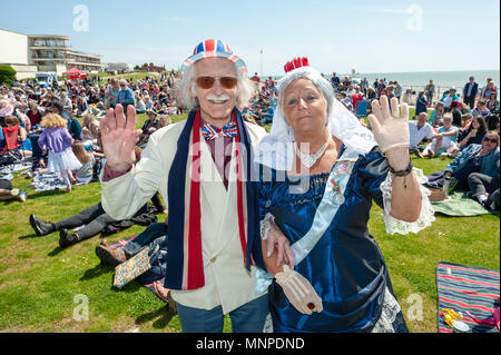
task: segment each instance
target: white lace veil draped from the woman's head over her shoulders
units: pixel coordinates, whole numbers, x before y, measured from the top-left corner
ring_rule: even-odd
[[[278,80],[277,109],[273,116],[272,130],[263,138],[255,151],[254,160],[269,168],[288,171],[292,169],[294,155],[294,131],[287,124],[283,110],[283,95],[291,82],[298,78],[311,80],[322,92],[327,102],[328,131],[346,147],[346,152],[366,154],[376,145],[373,134],[363,127],[358,119],[334,97],[331,83],[312,67],[301,67],[289,71]]]

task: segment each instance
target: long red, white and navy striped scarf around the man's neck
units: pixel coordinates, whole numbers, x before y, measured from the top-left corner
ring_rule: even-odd
[[[253,262],[264,268],[259,237],[257,183],[252,179],[254,159],[250,137],[236,109],[233,111],[233,120],[236,122],[237,217],[243,263],[248,270]],[[177,141],[176,156],[169,170],[167,187],[169,224],[165,286],[170,289],[197,289],[205,285],[199,179],[190,180],[189,196],[186,196],[185,190],[186,168],[190,150],[189,140],[191,137],[191,145],[199,146],[200,121],[200,110],[193,110]],[[246,159],[240,152],[240,144],[245,147]],[[200,161],[200,149],[193,149],[191,159],[191,176],[199,177],[200,165],[194,162]],[[185,201],[189,203],[185,205]]]

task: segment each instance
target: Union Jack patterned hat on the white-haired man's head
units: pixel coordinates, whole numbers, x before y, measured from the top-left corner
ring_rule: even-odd
[[[242,60],[238,56],[235,56],[229,49],[228,45],[219,39],[207,39],[199,42],[198,46],[195,47],[193,56],[183,62],[180,71],[185,72],[189,66],[197,62],[198,60],[215,57],[226,58],[233,61],[238,70],[240,70],[243,73],[247,73],[247,66],[245,65],[245,61]]]

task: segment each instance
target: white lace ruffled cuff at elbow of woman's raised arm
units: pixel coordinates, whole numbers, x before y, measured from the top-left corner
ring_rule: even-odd
[[[421,169],[413,168],[413,171],[421,189],[421,213],[416,221],[403,221],[390,215],[390,211],[392,209],[392,175],[389,172],[386,179],[383,181],[383,184],[381,184],[381,191],[383,193],[384,204],[383,217],[387,234],[393,235],[395,233],[399,233],[405,235],[410,231],[419,233],[420,230],[431,226],[435,220],[433,209],[428,198],[430,196],[430,190],[423,186],[423,184],[428,183],[428,178],[423,175],[423,170]]]

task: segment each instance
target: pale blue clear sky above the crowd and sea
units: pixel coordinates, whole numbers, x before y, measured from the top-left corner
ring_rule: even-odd
[[[79,4],[88,28],[73,14]],[[208,38],[226,41],[252,73],[282,75],[297,56],[326,73],[500,67],[499,0],[17,0],[2,1],[0,28],[68,36],[105,62],[176,69]]]

